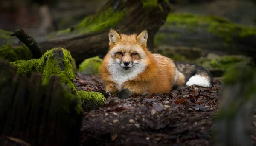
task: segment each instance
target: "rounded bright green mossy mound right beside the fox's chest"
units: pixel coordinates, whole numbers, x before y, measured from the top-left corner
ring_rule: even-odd
[[[85,59],[80,65],[78,71],[85,75],[93,75],[99,73],[99,67],[102,59],[99,56]]]

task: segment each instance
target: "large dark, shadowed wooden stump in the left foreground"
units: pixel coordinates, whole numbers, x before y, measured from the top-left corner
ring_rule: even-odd
[[[41,73],[28,78],[0,60],[0,89],[0,135],[32,146],[78,144],[81,100],[64,88],[58,76],[43,85]]]

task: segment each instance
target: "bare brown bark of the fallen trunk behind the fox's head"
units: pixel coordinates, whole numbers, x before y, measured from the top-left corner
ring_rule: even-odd
[[[140,33],[147,29],[147,45],[153,51],[154,35],[160,26],[164,24],[170,11],[169,5],[164,0],[158,0],[158,6],[143,8],[141,0],[119,0],[119,3],[116,3],[116,1],[118,0],[110,0],[99,12],[106,11],[109,6],[116,10],[127,10],[125,17],[113,29],[118,33],[126,34]],[[108,31],[109,28],[106,28],[99,33],[55,37],[38,40],[38,42],[43,48],[43,53],[55,47],[66,48],[70,51],[72,57],[76,59],[76,64],[78,65],[86,58],[97,55],[105,56],[108,51]]]

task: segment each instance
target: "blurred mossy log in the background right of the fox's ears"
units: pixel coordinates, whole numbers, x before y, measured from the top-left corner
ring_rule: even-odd
[[[256,27],[236,25],[221,17],[170,13],[154,41],[218,55],[250,56],[256,62]]]

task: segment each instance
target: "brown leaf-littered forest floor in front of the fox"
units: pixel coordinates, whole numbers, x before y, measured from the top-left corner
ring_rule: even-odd
[[[104,93],[99,76],[78,77],[78,90]],[[84,112],[80,146],[209,146],[221,96],[220,80],[213,83],[163,95],[109,97],[104,107]]]

